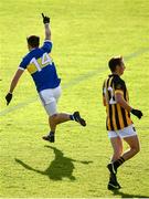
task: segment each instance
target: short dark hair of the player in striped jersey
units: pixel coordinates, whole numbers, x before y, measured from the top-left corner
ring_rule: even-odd
[[[108,62],[108,66],[110,69],[111,72],[115,72],[116,71],[116,66],[117,65],[121,65],[121,62],[123,62],[123,56],[115,56],[115,57],[111,57]]]

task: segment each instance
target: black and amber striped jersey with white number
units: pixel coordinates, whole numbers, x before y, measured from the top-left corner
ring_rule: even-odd
[[[124,100],[129,103],[128,91],[125,82],[118,75],[111,74],[103,84],[103,95],[106,101],[107,112],[107,130],[123,129],[132,124],[129,112],[123,108],[115,100],[115,94],[117,92],[121,93]]]

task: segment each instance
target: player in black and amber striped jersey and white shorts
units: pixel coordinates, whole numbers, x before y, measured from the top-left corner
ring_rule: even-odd
[[[130,118],[134,114],[141,118],[142,113],[129,105],[128,91],[125,81],[120,77],[126,69],[121,56],[113,57],[108,62],[111,74],[103,84],[103,104],[106,106],[106,128],[114,149],[109,170],[108,189],[119,189],[117,169],[126,160],[132,158],[140,150],[137,132]],[[123,153],[123,139],[129,145],[129,150]]]

